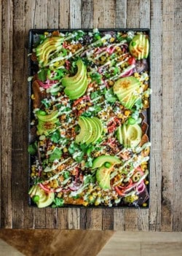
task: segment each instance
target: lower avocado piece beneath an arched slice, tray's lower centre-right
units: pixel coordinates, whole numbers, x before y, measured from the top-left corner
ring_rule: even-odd
[[[113,166],[111,166],[110,168],[107,168],[106,166],[101,166],[96,172],[96,179],[98,181],[98,185],[104,190],[111,189],[110,174],[112,168]]]

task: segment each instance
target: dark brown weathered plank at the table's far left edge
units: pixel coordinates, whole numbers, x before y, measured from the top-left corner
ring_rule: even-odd
[[[1,18],[1,226],[12,228],[12,1],[2,1]]]

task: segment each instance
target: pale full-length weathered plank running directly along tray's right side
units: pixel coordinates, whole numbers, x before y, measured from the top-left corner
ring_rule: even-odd
[[[162,182],[162,1],[151,1],[151,176],[149,230],[160,230]]]

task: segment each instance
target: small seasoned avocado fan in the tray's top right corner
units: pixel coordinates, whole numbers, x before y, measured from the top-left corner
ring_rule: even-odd
[[[147,58],[149,55],[149,39],[145,34],[138,34],[133,37],[129,45],[130,54],[137,60]]]

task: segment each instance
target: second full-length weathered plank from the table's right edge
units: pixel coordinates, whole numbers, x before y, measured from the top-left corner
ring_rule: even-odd
[[[173,4],[162,2],[162,231],[172,230],[173,211]]]

